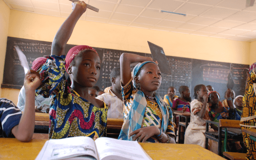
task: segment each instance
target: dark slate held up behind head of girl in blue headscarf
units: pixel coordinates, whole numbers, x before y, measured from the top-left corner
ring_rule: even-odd
[[[148,46],[150,48],[153,60],[158,62],[160,71],[165,74],[172,74],[163,48],[151,42],[148,42]]]

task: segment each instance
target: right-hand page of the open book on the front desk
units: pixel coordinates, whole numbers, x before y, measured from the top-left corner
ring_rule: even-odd
[[[95,140],[99,160],[150,160],[137,141],[100,137]]]

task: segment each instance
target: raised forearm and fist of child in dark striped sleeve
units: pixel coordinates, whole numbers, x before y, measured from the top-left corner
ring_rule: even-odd
[[[19,125],[12,129],[12,134],[17,140],[27,142],[32,139],[35,128],[35,89],[41,85],[40,75],[38,72],[30,70],[24,81],[25,88],[25,109],[20,118]]]

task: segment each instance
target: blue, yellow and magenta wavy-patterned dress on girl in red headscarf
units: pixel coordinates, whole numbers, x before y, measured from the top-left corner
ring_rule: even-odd
[[[47,58],[55,66],[50,64],[50,60],[42,66],[42,85],[37,92],[44,97],[52,96],[49,138],[88,136],[96,140],[105,136],[108,106],[97,108],[68,86],[65,78],[65,56]]]

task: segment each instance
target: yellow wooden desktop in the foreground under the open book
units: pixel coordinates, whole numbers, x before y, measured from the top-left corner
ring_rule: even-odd
[[[15,138],[0,138],[1,160],[35,160],[47,140],[32,139],[24,143]],[[153,160],[225,160],[198,145],[140,143]]]

